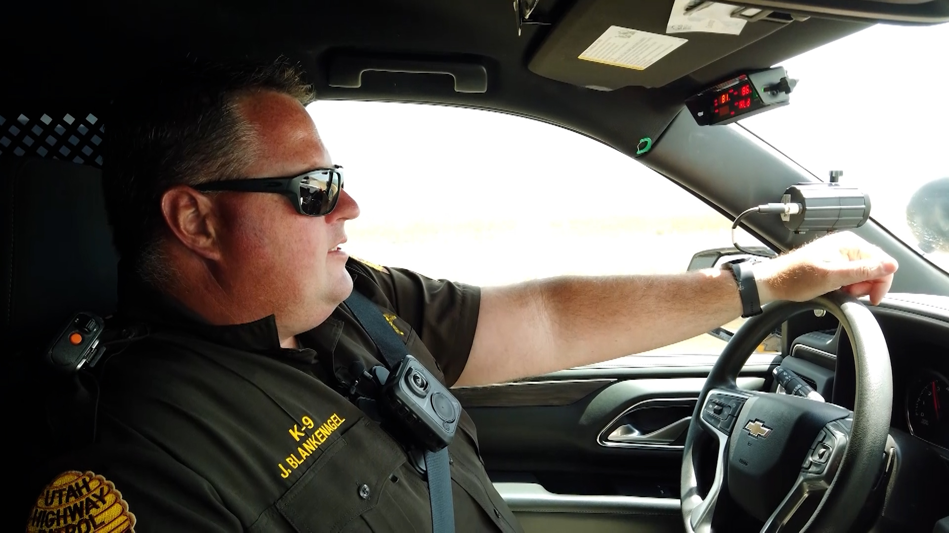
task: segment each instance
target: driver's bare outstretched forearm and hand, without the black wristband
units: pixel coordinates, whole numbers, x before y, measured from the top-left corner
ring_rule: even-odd
[[[852,233],[818,239],[754,267],[761,303],[805,301],[844,287],[879,303],[897,265]],[[486,287],[457,385],[496,383],[620,358],[686,340],[741,315],[735,278],[562,277]]]

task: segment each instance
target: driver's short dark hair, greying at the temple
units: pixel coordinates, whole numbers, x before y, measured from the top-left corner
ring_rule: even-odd
[[[113,101],[105,122],[102,186],[122,263],[162,284],[161,194],[215,177],[237,177],[250,162],[249,126],[238,97],[270,90],[306,105],[314,100],[302,71],[286,58],[263,63],[166,64]]]

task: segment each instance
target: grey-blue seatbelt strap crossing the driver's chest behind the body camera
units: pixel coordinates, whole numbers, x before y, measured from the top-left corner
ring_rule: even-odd
[[[408,355],[399,334],[382,316],[379,306],[353,290],[345,304],[376,344],[382,358],[395,371]],[[448,448],[425,450],[425,470],[428,477],[429,501],[432,504],[433,533],[455,533],[455,509],[452,507],[452,474],[448,465]]]

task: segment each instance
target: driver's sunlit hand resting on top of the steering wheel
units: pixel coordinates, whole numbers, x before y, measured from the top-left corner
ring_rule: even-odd
[[[898,265],[864,239],[849,231],[831,233],[808,245],[754,266],[761,303],[774,300],[804,302],[842,288],[870,303],[883,300]]]

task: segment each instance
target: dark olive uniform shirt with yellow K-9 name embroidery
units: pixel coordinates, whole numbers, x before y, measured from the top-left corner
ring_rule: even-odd
[[[354,260],[346,268],[408,352],[455,383],[479,289]],[[120,316],[150,333],[97,365],[94,444],[44,470],[28,531],[432,530],[421,474],[339,392],[354,361],[381,364],[344,305],[297,336],[301,349],[280,347],[273,316],[210,325],[138,284],[121,283]],[[521,531],[464,411],[448,450],[456,530]]]

